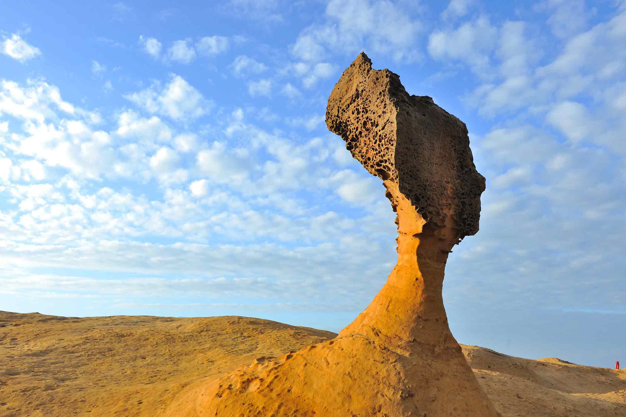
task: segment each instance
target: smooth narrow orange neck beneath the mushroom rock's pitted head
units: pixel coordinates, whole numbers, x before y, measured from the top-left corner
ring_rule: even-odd
[[[366,335],[406,353],[416,342],[454,346],[441,297],[448,253],[458,241],[454,228],[431,228],[397,184],[384,184],[398,213],[398,263],[371,304],[339,336]]]

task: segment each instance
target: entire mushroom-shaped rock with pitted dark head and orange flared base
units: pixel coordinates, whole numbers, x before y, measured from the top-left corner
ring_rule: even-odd
[[[365,53],[328,100],[326,124],[382,179],[398,217],[398,263],[359,316],[327,342],[262,357],[208,386],[207,416],[500,416],[448,327],[441,298],[454,245],[478,231],[485,178],[461,120]]]

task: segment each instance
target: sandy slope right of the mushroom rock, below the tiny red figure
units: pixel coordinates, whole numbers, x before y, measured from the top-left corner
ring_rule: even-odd
[[[626,416],[626,370],[547,357],[533,361],[461,346],[478,382],[503,416]]]

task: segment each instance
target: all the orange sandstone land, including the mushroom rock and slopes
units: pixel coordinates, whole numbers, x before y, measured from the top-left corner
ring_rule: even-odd
[[[468,129],[365,53],[326,124],[396,216],[398,262],[332,334],[245,317],[76,319],[5,313],[8,416],[626,416],[621,371],[460,346],[441,290],[448,256],[479,230],[485,177]],[[382,196],[381,196],[382,198]],[[7,398],[6,400],[4,398]]]

